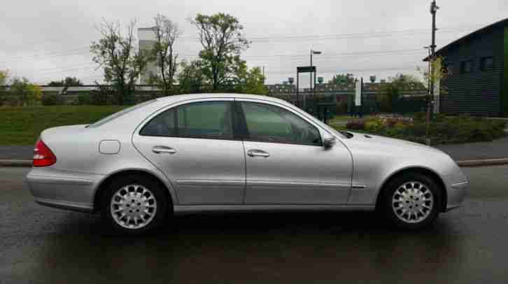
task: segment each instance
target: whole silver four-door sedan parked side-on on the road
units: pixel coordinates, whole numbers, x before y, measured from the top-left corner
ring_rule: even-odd
[[[246,94],[165,97],[46,129],[27,181],[39,204],[100,211],[126,234],[196,211],[376,210],[419,229],[460,206],[467,187],[435,148],[337,132]]]

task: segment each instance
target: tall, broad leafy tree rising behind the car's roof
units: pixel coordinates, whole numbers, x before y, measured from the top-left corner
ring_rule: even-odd
[[[235,72],[245,65],[239,55],[249,46],[239,20],[224,13],[197,14],[191,24],[198,29],[199,42],[203,47],[199,58],[213,91],[237,83],[239,76]]]

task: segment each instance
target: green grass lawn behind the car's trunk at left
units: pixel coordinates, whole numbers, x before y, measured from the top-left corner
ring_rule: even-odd
[[[44,129],[96,122],[125,106],[0,107],[0,145],[34,145]]]

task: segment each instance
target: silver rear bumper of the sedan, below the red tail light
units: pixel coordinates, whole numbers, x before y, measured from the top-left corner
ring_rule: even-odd
[[[31,194],[38,204],[72,211],[94,209],[94,194],[102,175],[33,168],[27,174]]]

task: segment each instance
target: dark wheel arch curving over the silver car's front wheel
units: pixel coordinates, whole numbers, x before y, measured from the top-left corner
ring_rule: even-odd
[[[383,183],[381,183],[380,190],[378,191],[378,194],[376,197],[376,211],[379,209],[379,206],[380,206],[379,204],[381,204],[381,199],[383,197],[384,192],[386,191],[386,185],[388,185],[388,183],[390,183],[390,181],[392,181],[393,179],[395,179],[399,176],[403,176],[406,173],[420,173],[425,176],[430,176],[430,178],[435,180],[435,182],[437,183],[437,185],[439,185],[439,187],[441,189],[442,197],[443,197],[441,204],[440,204],[441,205],[440,212],[446,211],[446,204],[448,204],[448,194],[446,192],[446,185],[444,184],[443,179],[435,171],[432,171],[431,169],[425,168],[423,166],[409,166],[407,168],[399,169],[399,170],[391,173],[390,176],[388,176],[388,178],[386,178],[383,181]]]

